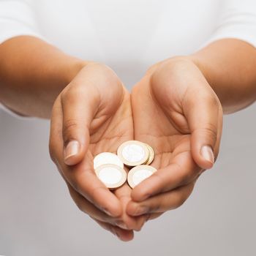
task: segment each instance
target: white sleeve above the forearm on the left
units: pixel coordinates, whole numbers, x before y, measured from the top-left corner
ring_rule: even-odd
[[[0,44],[20,35],[44,39],[29,0],[0,0]]]

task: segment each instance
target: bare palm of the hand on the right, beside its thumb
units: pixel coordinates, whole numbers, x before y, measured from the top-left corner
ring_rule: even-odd
[[[176,108],[177,99],[170,99],[170,95],[164,88],[152,89],[148,77],[143,78],[132,91],[135,140],[146,142],[154,148],[152,165],[157,169],[176,162],[191,165],[191,134],[187,119],[182,110]],[[173,102],[168,105],[168,113],[166,101]]]

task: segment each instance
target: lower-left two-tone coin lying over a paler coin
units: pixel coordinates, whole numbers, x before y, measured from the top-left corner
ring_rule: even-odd
[[[118,165],[100,165],[95,173],[109,189],[121,187],[127,181],[126,171]]]

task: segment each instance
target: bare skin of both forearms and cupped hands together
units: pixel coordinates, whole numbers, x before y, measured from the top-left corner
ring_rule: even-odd
[[[238,56],[236,61],[233,56]],[[214,148],[216,159],[222,109],[232,113],[255,101],[255,64],[255,48],[241,40],[222,39],[191,56],[155,64],[132,90],[130,101],[121,81],[105,65],[67,56],[34,37],[15,37],[0,45],[0,101],[20,115],[52,115],[50,156],[75,203],[99,225],[129,241],[132,230],[140,230],[146,219],[184,203],[200,173],[213,166],[209,148],[206,158],[200,148]],[[192,93],[186,95],[186,90]],[[140,102],[145,99],[143,116],[139,97]],[[152,111],[156,119],[148,118]],[[152,120],[165,124],[165,129]],[[146,127],[152,134],[145,132]],[[116,151],[133,138],[154,147],[153,165],[162,170],[133,191],[125,185],[110,192],[92,172],[93,156]],[[165,174],[168,182],[163,182]]]

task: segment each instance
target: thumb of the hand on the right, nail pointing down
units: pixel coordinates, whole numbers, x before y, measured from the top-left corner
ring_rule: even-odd
[[[205,82],[207,83],[207,82]],[[184,99],[184,115],[192,132],[192,156],[203,169],[213,167],[219,151],[222,108],[217,95],[208,84],[201,91],[188,92]],[[209,86],[208,86],[209,87]]]

